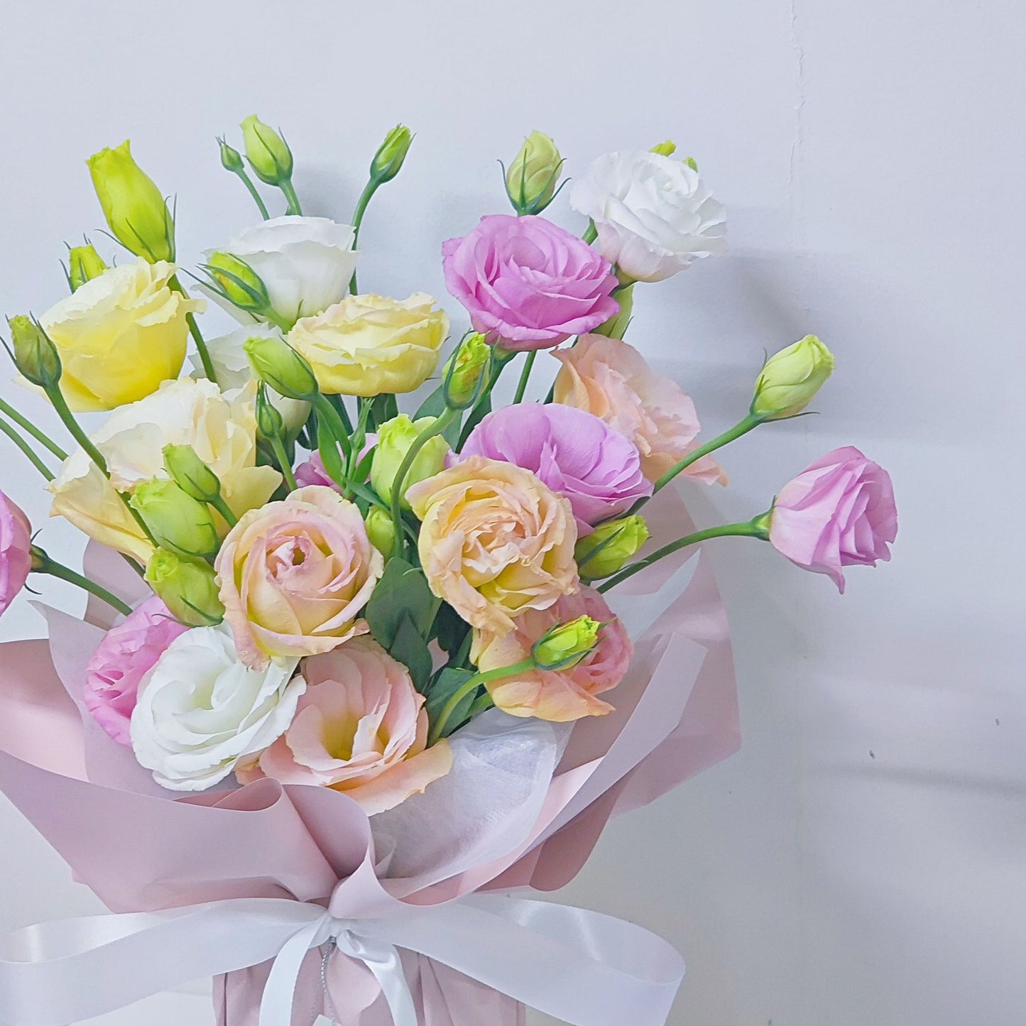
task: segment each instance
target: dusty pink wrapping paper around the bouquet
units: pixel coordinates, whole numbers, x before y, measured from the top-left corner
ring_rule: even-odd
[[[652,504],[650,544],[690,529],[668,492]],[[688,559],[690,581],[637,641],[614,693],[616,711],[575,726],[529,835],[504,857],[439,882],[378,883],[371,875],[350,886],[360,867],[372,873],[373,842],[366,816],[339,792],[263,780],[180,798],[157,787],[78,700],[85,662],[109,626],[100,608],[89,609],[92,624],[49,610],[49,646],[0,646],[0,789],[114,911],[289,898],[330,900],[348,914],[347,893],[359,894],[365,910],[367,902],[432,904],[475,890],[555,890],[584,865],[610,816],[655,800],[740,745],[726,618],[707,557],[678,554],[637,575],[630,590],[655,591]],[[127,599],[140,597],[137,578],[110,553],[91,551],[87,569]],[[403,964],[421,1026],[522,1026],[523,1007],[513,999],[421,955],[404,952]],[[258,965],[215,981],[219,1026],[256,1026],[268,971]],[[328,975],[343,1026],[389,1026],[362,963],[337,955]],[[323,998],[312,952],[295,1026],[327,1013]]]

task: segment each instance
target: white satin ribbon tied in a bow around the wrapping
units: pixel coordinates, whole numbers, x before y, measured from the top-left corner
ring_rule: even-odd
[[[571,1026],[665,1026],[684,970],[669,944],[633,923],[504,895],[366,919],[297,901],[233,899],[9,934],[0,939],[0,1021],[66,1026],[274,959],[260,1026],[291,1026],[303,960],[331,938],[373,973],[395,1026],[417,1026],[398,948]]]

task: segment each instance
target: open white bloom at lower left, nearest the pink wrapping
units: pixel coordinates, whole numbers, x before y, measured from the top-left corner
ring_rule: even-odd
[[[135,758],[172,791],[213,787],[292,722],[307,689],[298,665],[281,659],[252,670],[226,627],[187,631],[140,683],[130,728]]]

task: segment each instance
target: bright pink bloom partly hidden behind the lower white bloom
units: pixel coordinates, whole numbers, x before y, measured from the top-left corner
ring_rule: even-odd
[[[131,746],[128,728],[140,681],[188,629],[154,595],[112,627],[92,654],[82,698],[92,718],[119,745]]]

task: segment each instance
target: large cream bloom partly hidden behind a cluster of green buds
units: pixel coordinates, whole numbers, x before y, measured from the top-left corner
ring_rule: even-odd
[[[143,481],[167,477],[165,445],[191,445],[218,475],[225,501],[237,516],[263,506],[281,475],[272,467],[256,466],[255,392],[253,383],[222,393],[213,382],[183,378],[115,410],[90,436],[107,461],[110,481],[78,449],[49,484],[51,515],[146,562],[153,546],[117,492],[128,494]]]

